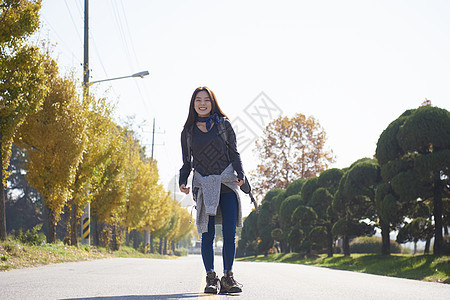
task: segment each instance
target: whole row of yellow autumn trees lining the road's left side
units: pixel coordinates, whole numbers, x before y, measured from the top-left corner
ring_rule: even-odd
[[[121,231],[148,230],[167,248],[191,231],[190,214],[158,184],[156,161],[145,156],[129,126],[114,122],[107,99],[80,95],[77,80],[60,73],[48,47],[29,42],[40,8],[38,0],[0,1],[0,238],[7,233],[5,187],[17,189],[25,174],[19,198],[42,199],[47,242],[56,241],[64,214],[67,239],[76,245],[90,202],[94,227],[103,224],[109,232],[95,236],[94,228],[94,243],[117,248]],[[13,144],[17,164],[10,167]],[[37,193],[30,194],[28,184]]]

